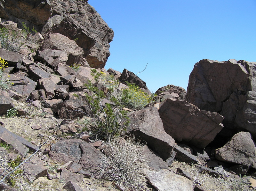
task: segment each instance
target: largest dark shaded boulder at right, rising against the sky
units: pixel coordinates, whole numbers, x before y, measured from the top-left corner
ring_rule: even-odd
[[[225,119],[224,136],[246,130],[256,136],[256,62],[201,60],[189,76],[186,101]]]

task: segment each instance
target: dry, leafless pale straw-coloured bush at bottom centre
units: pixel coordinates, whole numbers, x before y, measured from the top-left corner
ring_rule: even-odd
[[[125,140],[110,139],[106,152],[100,172],[103,178],[127,189],[148,190],[143,174],[148,163],[142,155],[143,145],[133,137],[126,137]]]

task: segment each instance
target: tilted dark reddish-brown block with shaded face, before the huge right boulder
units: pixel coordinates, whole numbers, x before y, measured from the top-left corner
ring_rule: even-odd
[[[202,111],[187,101],[172,98],[160,104],[159,115],[166,133],[198,148],[211,143],[223,127],[220,114]]]

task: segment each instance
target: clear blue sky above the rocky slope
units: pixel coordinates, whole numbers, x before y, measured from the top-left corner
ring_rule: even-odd
[[[137,74],[155,92],[187,89],[202,59],[256,62],[256,0],[89,0],[115,36],[106,69]]]

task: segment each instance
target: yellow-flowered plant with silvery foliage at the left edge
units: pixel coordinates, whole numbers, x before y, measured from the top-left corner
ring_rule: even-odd
[[[3,58],[0,57],[0,89],[1,90],[7,90],[13,85],[13,83],[10,82],[10,76],[3,72],[4,69],[8,67],[7,64],[8,63],[4,61]]]

